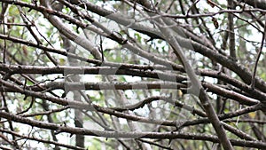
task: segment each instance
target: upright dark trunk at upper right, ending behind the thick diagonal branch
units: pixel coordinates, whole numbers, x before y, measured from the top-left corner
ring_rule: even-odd
[[[234,9],[233,0],[228,0],[228,9]],[[228,29],[229,29],[229,51],[231,59],[237,59],[236,43],[235,43],[235,31],[234,31],[234,18],[232,13],[228,13]]]

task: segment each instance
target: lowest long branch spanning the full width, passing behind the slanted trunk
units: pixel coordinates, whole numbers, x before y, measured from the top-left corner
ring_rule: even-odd
[[[180,133],[180,132],[116,132],[116,131],[101,131],[101,130],[86,130],[82,128],[73,128],[67,126],[60,126],[54,123],[48,122],[39,122],[33,121],[27,118],[23,118],[20,116],[16,116],[13,114],[0,112],[0,116],[7,120],[11,120],[14,122],[25,123],[31,126],[35,126],[38,128],[48,129],[48,130],[56,130],[57,132],[66,132],[71,134],[82,134],[86,136],[100,136],[106,138],[168,138],[168,139],[190,139],[190,140],[206,140],[214,143],[218,143],[219,139],[215,136],[209,136],[204,134],[189,134],[189,133]],[[234,140],[231,139],[231,144],[234,146],[246,146],[246,147],[254,147],[254,148],[266,148],[266,143],[257,142],[257,141],[246,141],[246,140]]]

